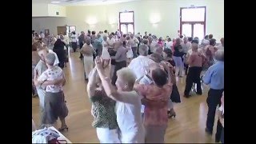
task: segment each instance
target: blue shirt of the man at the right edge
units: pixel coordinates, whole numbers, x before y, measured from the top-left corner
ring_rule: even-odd
[[[202,80],[206,85],[210,85],[211,89],[224,89],[224,62],[216,62],[210,66]]]

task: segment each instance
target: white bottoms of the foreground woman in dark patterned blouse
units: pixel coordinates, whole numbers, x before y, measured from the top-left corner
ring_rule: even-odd
[[[100,143],[121,143],[118,138],[118,129],[96,128],[96,132]]]

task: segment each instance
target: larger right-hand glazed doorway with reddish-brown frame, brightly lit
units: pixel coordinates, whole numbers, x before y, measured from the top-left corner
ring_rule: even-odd
[[[203,39],[206,35],[206,6],[181,7],[180,34]]]

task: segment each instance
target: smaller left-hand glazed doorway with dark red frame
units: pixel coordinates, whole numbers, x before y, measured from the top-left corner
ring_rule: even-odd
[[[119,30],[122,34],[134,34],[134,11],[119,12]]]

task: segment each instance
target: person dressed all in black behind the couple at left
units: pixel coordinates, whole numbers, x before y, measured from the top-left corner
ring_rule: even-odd
[[[64,63],[66,61],[64,46],[66,46],[66,44],[65,42],[62,42],[60,38],[54,43],[54,52],[57,54],[59,60],[58,66],[62,69],[64,68]]]

